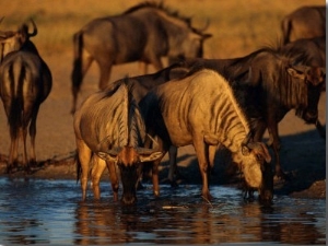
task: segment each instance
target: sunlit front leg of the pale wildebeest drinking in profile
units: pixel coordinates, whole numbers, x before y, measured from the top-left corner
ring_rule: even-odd
[[[197,159],[198,159],[198,165],[199,165],[199,171],[201,174],[202,178],[202,197],[206,200],[211,200],[212,196],[210,195],[209,191],[209,179],[208,179],[208,174],[209,174],[209,147],[203,142],[203,138],[199,138],[198,136],[194,134],[195,140],[194,140],[194,147],[196,150]]]

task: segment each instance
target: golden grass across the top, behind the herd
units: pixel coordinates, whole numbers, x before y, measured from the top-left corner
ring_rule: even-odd
[[[33,17],[39,34],[33,39],[42,54],[71,52],[72,35],[90,20],[119,14],[141,1],[104,0],[0,0],[1,30],[16,28]],[[325,4],[324,0],[166,0],[172,10],[191,16],[195,26],[207,20],[213,37],[206,42],[207,58],[244,56],[281,37],[282,17],[301,5]]]

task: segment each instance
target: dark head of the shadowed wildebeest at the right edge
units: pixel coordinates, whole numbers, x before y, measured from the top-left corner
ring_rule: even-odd
[[[307,124],[315,124],[318,120],[318,102],[321,91],[325,90],[326,69],[318,67],[294,66],[288,68],[293,78],[301,80],[306,93],[304,105],[296,108],[296,115]]]

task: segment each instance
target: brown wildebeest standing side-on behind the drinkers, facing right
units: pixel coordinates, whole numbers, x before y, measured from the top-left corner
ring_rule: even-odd
[[[141,3],[120,15],[95,19],[74,34],[72,71],[73,105],[93,60],[99,67],[98,87],[103,90],[113,65],[131,61],[152,63],[163,69],[161,57],[202,57],[203,34],[190,25],[190,20],[168,12],[162,4]]]

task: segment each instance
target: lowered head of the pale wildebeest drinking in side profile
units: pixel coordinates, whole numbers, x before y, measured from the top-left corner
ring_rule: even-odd
[[[245,183],[247,188],[258,190],[261,201],[270,202],[273,198],[271,156],[265,143],[253,142],[249,139],[248,136],[243,141],[239,155]]]

